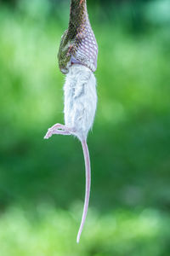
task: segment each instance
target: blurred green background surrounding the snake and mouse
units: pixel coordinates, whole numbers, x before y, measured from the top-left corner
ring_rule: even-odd
[[[0,255],[170,255],[170,1],[88,0],[99,44],[79,245],[81,144],[63,123],[57,52],[68,0],[0,1]]]

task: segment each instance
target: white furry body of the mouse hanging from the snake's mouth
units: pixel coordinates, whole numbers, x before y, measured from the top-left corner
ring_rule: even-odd
[[[97,105],[96,79],[85,66],[74,64],[65,79],[65,126],[81,141],[94,123]]]

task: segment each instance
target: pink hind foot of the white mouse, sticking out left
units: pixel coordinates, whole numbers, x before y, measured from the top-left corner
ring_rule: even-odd
[[[55,124],[51,128],[48,129],[48,132],[45,135],[45,139],[52,137],[54,134],[60,135],[71,135],[71,129],[66,127],[65,125]]]

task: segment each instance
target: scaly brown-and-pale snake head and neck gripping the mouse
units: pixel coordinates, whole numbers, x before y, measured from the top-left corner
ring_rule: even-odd
[[[88,20],[86,0],[71,0],[69,27],[59,46],[59,69],[68,73],[72,64],[82,64],[93,72],[97,68],[98,45]]]

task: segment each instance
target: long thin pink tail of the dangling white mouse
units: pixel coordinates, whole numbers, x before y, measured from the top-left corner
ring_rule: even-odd
[[[86,168],[86,193],[85,193],[84,207],[83,207],[83,213],[82,213],[82,222],[77,235],[77,243],[80,241],[80,236],[82,234],[82,229],[88,213],[88,202],[90,197],[90,185],[91,185],[90,157],[88,152],[88,144],[86,140],[82,141],[82,150],[84,154],[84,161],[85,161],[85,168]]]

